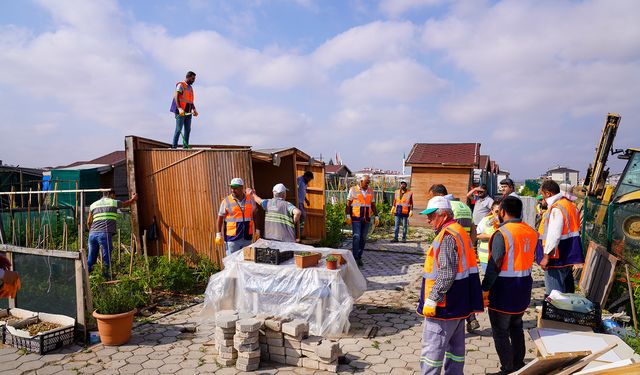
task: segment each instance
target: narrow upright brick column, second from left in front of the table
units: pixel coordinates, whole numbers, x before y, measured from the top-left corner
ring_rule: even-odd
[[[233,346],[238,351],[236,368],[240,371],[254,371],[260,367],[260,345],[258,343],[262,321],[255,318],[236,322]]]

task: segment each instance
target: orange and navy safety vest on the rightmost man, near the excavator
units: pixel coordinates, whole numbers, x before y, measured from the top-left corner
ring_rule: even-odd
[[[562,214],[563,227],[562,234],[560,235],[560,243],[558,243],[558,246],[549,254],[549,263],[547,266],[550,268],[560,268],[584,263],[582,242],[580,241],[580,212],[576,205],[565,197],[558,199],[542,215],[542,220],[538,227],[540,238],[538,239],[538,246],[536,248],[536,262],[540,263],[544,256],[549,219],[551,211],[554,208],[559,209]]]

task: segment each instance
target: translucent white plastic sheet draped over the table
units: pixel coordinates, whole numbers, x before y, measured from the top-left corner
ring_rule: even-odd
[[[211,276],[205,291],[202,317],[213,320],[220,310],[304,319],[313,335],[336,337],[349,330],[354,301],[367,289],[367,281],[349,250],[316,248],[297,243],[260,239],[252,247],[281,251],[317,252],[317,267],[296,268],[294,259],[279,265],[244,260],[238,251],[223,259],[224,270]],[[326,256],[339,253],[347,264],[326,268]]]

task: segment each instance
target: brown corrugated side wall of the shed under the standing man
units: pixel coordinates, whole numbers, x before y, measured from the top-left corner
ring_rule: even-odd
[[[251,151],[233,149],[143,149],[135,151],[140,232],[154,222],[158,240],[147,243],[149,254],[200,254],[220,262],[215,249],[215,222],[229,181],[241,177],[252,184]],[[171,228],[171,238],[169,238]]]

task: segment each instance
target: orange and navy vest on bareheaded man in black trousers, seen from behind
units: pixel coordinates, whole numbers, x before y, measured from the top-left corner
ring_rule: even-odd
[[[489,293],[489,308],[507,314],[520,314],[531,302],[531,266],[538,232],[523,222],[502,225],[489,239],[489,258],[496,233],[502,234],[506,251],[498,278]]]

